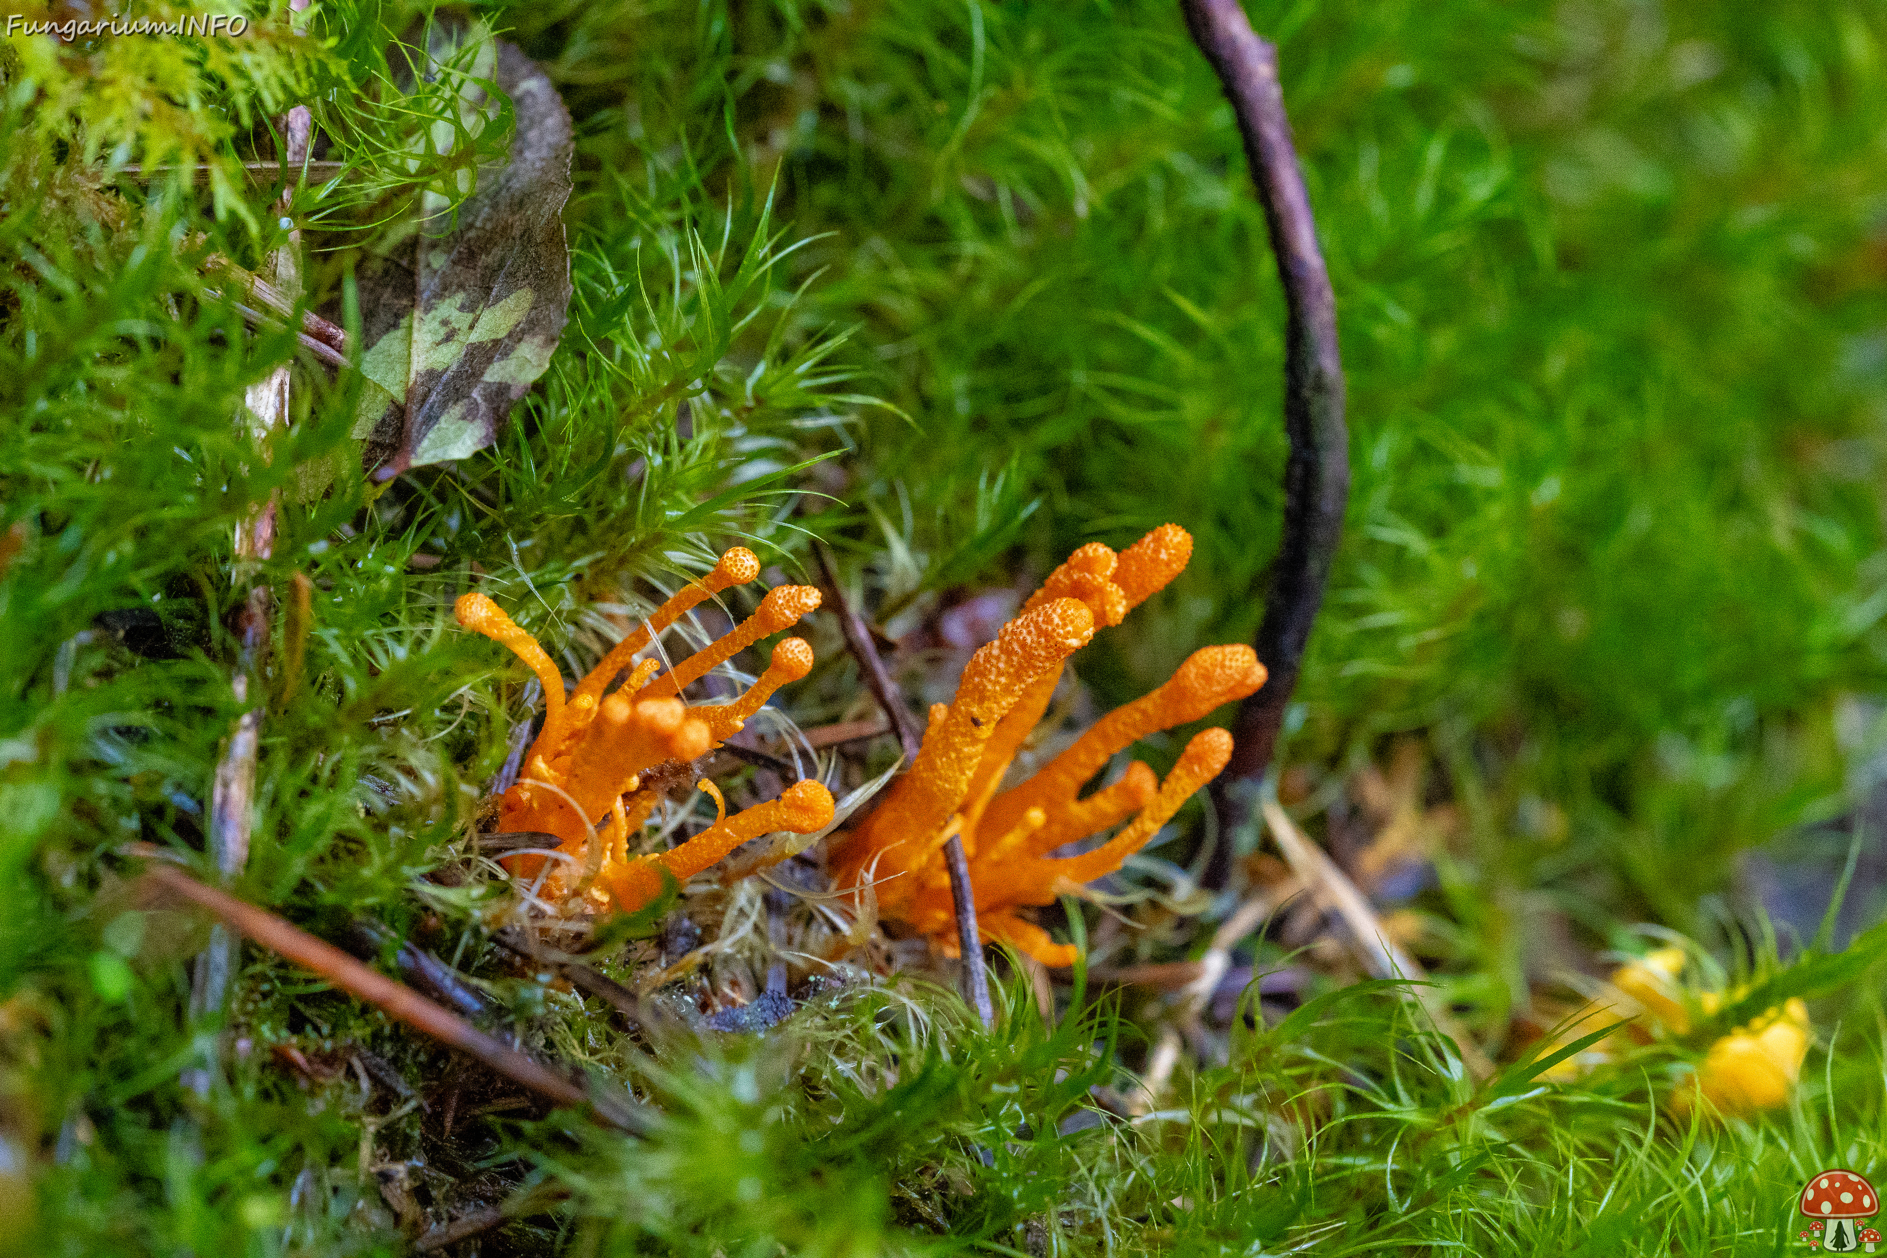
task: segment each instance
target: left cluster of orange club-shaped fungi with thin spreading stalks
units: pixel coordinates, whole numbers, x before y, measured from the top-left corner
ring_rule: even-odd
[[[564,694],[557,664],[538,641],[483,594],[466,594],[455,605],[459,622],[509,647],[543,683],[543,730],[525,756],[517,783],[498,800],[498,820],[508,832],[542,832],[559,837],[559,868],[545,873],[542,894],[568,898],[579,888],[598,907],[611,900],[625,911],[649,903],[662,888],[662,873],[681,881],[700,873],[749,839],[777,830],[811,834],[832,820],[832,794],[815,781],[802,781],[766,803],[723,815],[713,826],[666,852],[632,854],[628,836],[655,811],[659,792],[642,775],[668,762],[687,764],[719,747],[772,698],[813,666],[811,647],[787,637],[774,647],[772,662],[753,687],[732,703],[689,707],[681,692],[708,670],[770,634],[793,628],[819,605],[810,585],[783,585],[766,592],[760,607],[732,632],[655,677],[657,660],[636,664],[613,692],[619,671],[638,651],[677,617],[721,590],[753,581],[760,562],[753,551],[734,547],[700,581],[664,602],[642,628],[615,645],[574,690]],[[511,856],[511,869],[536,877],[543,856]]]

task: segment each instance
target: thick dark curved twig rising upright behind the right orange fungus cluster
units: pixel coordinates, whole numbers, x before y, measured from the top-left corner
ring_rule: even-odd
[[[1285,707],[1296,688],[1304,643],[1323,604],[1349,500],[1349,432],[1344,426],[1336,294],[1317,247],[1317,223],[1291,141],[1277,49],[1251,28],[1240,0],[1181,0],[1179,8],[1238,117],[1285,292],[1285,432],[1291,455],[1285,460],[1283,541],[1272,564],[1255,643],[1270,675],[1240,705],[1232,762],[1213,785],[1219,817],[1230,832],[1245,820],[1251,802],[1242,798],[1249,796],[1249,788],[1228,786],[1255,785],[1270,768]]]

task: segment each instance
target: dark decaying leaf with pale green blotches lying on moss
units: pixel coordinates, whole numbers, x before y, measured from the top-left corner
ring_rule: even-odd
[[[453,213],[426,217],[360,279],[364,375],[353,436],[376,479],[464,458],[543,375],[570,311],[570,111],[509,43],[487,43],[472,81],[509,96],[509,160],[477,172]],[[468,87],[468,108],[489,109]]]

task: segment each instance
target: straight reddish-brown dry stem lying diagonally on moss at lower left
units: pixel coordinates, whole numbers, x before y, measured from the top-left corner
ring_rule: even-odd
[[[217,890],[215,886],[206,886],[189,873],[168,866],[162,860],[151,862],[145,877],[164,890],[209,909],[223,919],[230,930],[247,935],[272,952],[287,956],[298,966],[313,969],[343,992],[381,1009],[387,1017],[398,1018],[400,1022],[432,1035],[440,1043],[451,1045],[453,1049],[477,1058],[491,1069],[525,1088],[530,1088],[538,1096],[543,1096],[559,1105],[574,1105],[594,1113],[589,1094],[581,1086],[540,1066],[517,1049],[493,1039],[455,1013],[432,1003],[413,988],[394,983],[376,969],[368,969],[332,943],[317,939],[306,930],[281,920],[274,913],[259,909],[253,903],[245,903],[236,896]]]

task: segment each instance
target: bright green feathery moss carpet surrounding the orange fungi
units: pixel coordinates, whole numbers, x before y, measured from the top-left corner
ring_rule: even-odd
[[[791,573],[827,536],[889,617],[1172,519],[1193,568],[1083,658],[1130,698],[1261,615],[1281,315],[1168,4],[519,6],[489,15],[577,123],[549,373],[494,449],[377,490],[349,377],[302,360],[259,449],[243,390],[294,345],[204,270],[283,243],[283,187],[242,174],[259,128],[313,100],[336,166],[291,217],[334,311],[385,223],[504,140],[419,140],[459,126],[451,75],[389,53],[425,15],[0,62],[0,1237],[391,1254],[425,1198],[517,1205],[485,1252],[1772,1252],[1802,1179],[1878,1166],[1864,964],[1817,994],[1787,1113],[1687,1128],[1655,1098],[1700,1043],[1476,1088],[1385,986],[1247,1005],[1123,1120],[1096,1105],[1170,1017],[1138,996],[1049,1026],[1017,983],[985,1035],[887,981],[764,1037],[630,1035],[508,962],[496,885],[428,879],[530,711],[523,670],[451,628],[474,575],[576,671],[600,604],[734,539]],[[1598,0],[1253,17],[1336,277],[1357,470],[1289,756],[1334,790],[1385,734],[1427,739],[1462,826],[1425,954],[1498,1045],[1561,960],[1549,913],[1595,949],[1645,917],[1706,934],[1738,849],[1861,781],[1838,713],[1887,656],[1887,30]],[[272,498],[274,556],[238,575],[232,528]],[[202,922],[136,903],[119,851],[196,858],[245,707],[234,609],[296,577],[236,890],[425,939],[496,1026],[647,1096],[647,1141],[472,1113],[509,1098],[253,951],[228,1022],[191,1013]],[[794,715],[859,715],[847,677]],[[1200,947],[1166,913],[1145,956]]]

